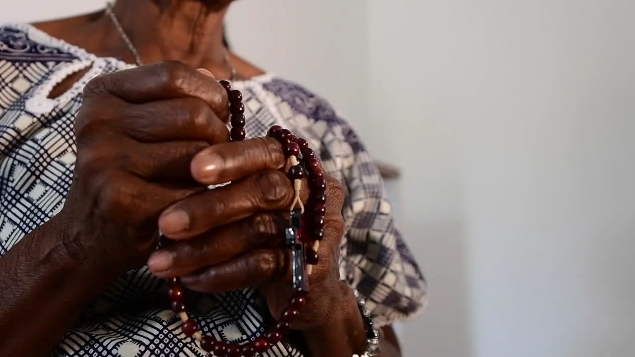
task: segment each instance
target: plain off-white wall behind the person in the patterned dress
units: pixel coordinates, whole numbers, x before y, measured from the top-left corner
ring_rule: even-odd
[[[102,3],[22,1],[16,20]],[[635,3],[235,7],[238,51],[323,94],[404,170],[398,222],[431,299],[406,356],[635,354]]]

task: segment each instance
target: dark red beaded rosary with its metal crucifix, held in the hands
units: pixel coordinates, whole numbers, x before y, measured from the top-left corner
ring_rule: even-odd
[[[231,114],[230,138],[231,141],[243,140],[246,136],[244,126],[243,95],[238,90],[232,90],[228,81],[220,81],[227,91],[229,100],[229,113]],[[324,215],[326,214],[326,179],[324,171],[319,164],[315,152],[309,148],[309,143],[304,138],[296,137],[291,131],[274,125],[267,132],[267,136],[275,138],[283,146],[284,156],[288,159],[290,169],[287,173],[293,182],[294,199],[290,207],[290,220],[284,229],[284,242],[291,250],[291,270],[293,295],[288,307],[284,309],[282,317],[269,332],[246,344],[227,343],[215,339],[211,335],[203,335],[199,331],[196,321],[189,318],[185,312],[184,286],[178,278],[168,281],[168,297],[172,311],[180,316],[183,325],[182,332],[194,337],[201,349],[213,353],[215,356],[252,357],[257,353],[267,351],[270,346],[280,342],[284,333],[290,329],[290,324],[297,318],[298,311],[306,302],[306,296],[310,291],[308,277],[312,267],[318,264],[319,242],[324,238]],[[302,214],[305,206],[300,200],[302,179],[308,179],[311,193],[308,201],[312,217],[305,222]],[[308,231],[307,231],[308,229]],[[310,234],[309,234],[310,233]],[[165,240],[162,237],[163,241]]]

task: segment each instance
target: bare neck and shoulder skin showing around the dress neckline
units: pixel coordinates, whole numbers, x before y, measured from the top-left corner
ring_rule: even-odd
[[[157,0],[117,1],[113,11],[124,34],[138,51],[142,63],[178,60],[212,72],[217,79],[249,79],[264,73],[241,57],[229,53],[223,43],[223,19],[227,8],[210,11],[204,1],[179,0],[181,7],[160,8]],[[170,0],[173,1],[173,0]],[[225,0],[228,1],[229,0]],[[171,2],[170,2],[171,4]],[[139,21],[143,18],[144,21]],[[73,44],[97,57],[120,58],[135,64],[135,55],[106,11],[40,22],[38,29]],[[73,74],[58,84],[50,98],[58,97],[85,71]]]

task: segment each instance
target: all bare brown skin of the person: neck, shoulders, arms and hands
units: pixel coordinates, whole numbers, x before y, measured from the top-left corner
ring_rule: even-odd
[[[274,316],[286,306],[288,256],[276,233],[292,192],[281,147],[269,138],[230,143],[225,91],[209,72],[195,70],[229,76],[222,48],[229,3],[117,1],[115,11],[149,65],[86,86],[64,208],[0,257],[0,356],[48,356],[94,297],[146,263],[161,278],[183,276],[192,290],[258,287]],[[37,27],[98,56],[134,61],[103,11]],[[239,78],[262,74],[229,55]],[[69,76],[51,97],[82,74]],[[211,165],[213,157],[221,160]],[[205,189],[229,180],[230,186]],[[310,356],[344,357],[362,352],[364,326],[351,289],[338,281],[344,192],[327,180],[320,261],[293,328],[303,331]],[[168,216],[175,211],[186,213],[185,229]],[[153,254],[157,226],[174,243]],[[399,356],[391,328],[384,332],[382,356]]]

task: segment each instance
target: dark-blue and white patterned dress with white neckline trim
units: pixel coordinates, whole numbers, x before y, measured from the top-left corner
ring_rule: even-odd
[[[84,84],[129,67],[30,25],[0,23],[0,257],[64,205],[77,154],[73,125]],[[69,91],[48,98],[65,77],[86,69]],[[340,272],[367,298],[377,325],[420,311],[424,278],[394,226],[377,167],[351,127],[321,98],[271,74],[232,85],[243,92],[247,137],[264,136],[271,125],[289,128],[309,141],[324,170],[344,184]],[[178,317],[156,302],[163,296],[163,282],[147,268],[124,274],[51,356],[207,356],[181,332]],[[253,289],[191,293],[190,299],[201,330],[226,341],[253,340],[271,320]],[[284,340],[263,355],[302,356],[297,340]]]

